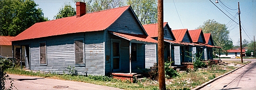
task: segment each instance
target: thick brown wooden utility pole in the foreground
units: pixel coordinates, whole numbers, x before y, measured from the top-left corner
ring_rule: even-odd
[[[157,4],[157,23],[158,23],[158,82],[159,90],[166,90],[163,60],[163,0],[158,0]]]

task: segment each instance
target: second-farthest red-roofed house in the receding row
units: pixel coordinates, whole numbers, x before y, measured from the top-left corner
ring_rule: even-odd
[[[202,30],[189,30],[189,34],[192,38],[193,43],[196,43],[196,44],[206,43]],[[198,47],[193,47],[192,51],[197,54],[197,57],[199,57],[199,54],[202,53],[201,59],[205,60],[205,52],[204,52],[205,47],[206,46],[201,44],[201,45],[198,45]]]

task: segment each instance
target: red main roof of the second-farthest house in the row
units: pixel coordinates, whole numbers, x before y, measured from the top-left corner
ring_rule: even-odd
[[[193,42],[198,42],[198,39],[199,39],[201,33],[202,33],[202,30],[189,30],[189,35],[192,38]],[[204,40],[203,35],[202,35],[202,38]]]

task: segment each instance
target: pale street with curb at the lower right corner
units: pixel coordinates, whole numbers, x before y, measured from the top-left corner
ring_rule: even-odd
[[[222,59],[239,60],[241,59]],[[256,90],[256,60],[243,59],[243,61],[252,61],[250,64],[237,69],[222,78],[210,83],[200,90]],[[209,85],[209,84],[208,84]]]

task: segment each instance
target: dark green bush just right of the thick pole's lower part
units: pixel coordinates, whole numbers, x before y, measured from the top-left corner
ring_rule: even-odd
[[[173,68],[170,67],[171,62],[167,61],[164,63],[164,72],[165,72],[165,77],[166,78],[173,78],[178,76],[178,72],[175,71]]]

